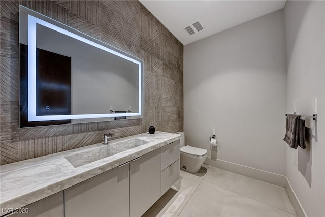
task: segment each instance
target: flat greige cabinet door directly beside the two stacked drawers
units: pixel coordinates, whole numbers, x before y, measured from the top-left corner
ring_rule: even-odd
[[[131,161],[130,217],[143,215],[160,197],[161,149]]]

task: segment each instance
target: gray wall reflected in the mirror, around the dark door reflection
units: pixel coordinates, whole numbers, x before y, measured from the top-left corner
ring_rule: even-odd
[[[37,39],[38,48],[72,57],[72,114],[110,113],[110,105],[139,112],[137,64],[40,25]]]

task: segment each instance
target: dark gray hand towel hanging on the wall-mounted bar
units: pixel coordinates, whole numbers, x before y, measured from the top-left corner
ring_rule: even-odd
[[[284,141],[291,148],[297,148],[298,145],[305,149],[305,120],[300,119],[301,115],[288,114],[286,117]]]

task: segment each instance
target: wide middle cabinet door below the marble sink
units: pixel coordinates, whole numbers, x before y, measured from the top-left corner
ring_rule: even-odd
[[[128,216],[129,164],[64,190],[66,217]]]

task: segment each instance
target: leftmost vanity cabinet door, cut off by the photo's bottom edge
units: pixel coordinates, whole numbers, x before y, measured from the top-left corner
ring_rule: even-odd
[[[17,210],[10,217],[63,217],[63,191],[31,203]]]

